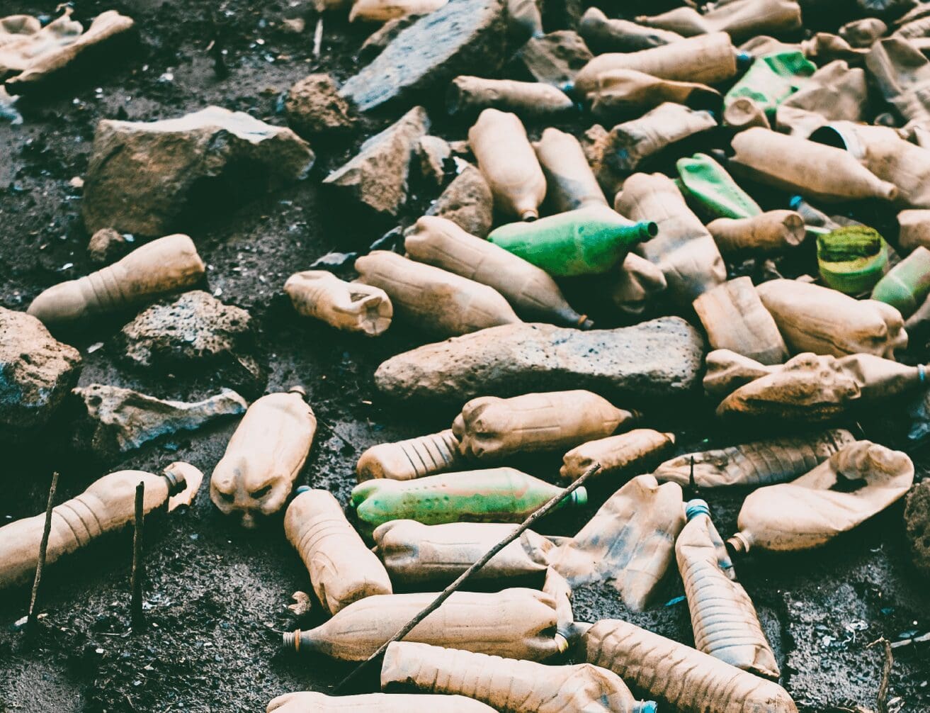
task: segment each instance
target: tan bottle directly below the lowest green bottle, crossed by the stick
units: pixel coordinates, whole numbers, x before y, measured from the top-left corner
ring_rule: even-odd
[[[393,581],[406,586],[448,585],[507,537],[516,525],[497,522],[449,522],[424,525],[391,520],[373,537],[379,558]],[[551,540],[527,530],[485,564],[475,579],[541,575],[554,551]]]

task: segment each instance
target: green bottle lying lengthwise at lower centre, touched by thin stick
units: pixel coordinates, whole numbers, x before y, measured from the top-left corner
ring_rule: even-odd
[[[374,530],[396,519],[444,522],[522,522],[562,491],[514,468],[444,473],[416,480],[366,480],[352,490],[360,522]],[[587,504],[578,488],[559,507]]]

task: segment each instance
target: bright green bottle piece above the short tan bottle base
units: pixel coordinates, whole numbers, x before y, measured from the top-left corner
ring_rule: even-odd
[[[726,169],[707,154],[679,158],[675,164],[682,193],[711,218],[751,218],[762,209]]]

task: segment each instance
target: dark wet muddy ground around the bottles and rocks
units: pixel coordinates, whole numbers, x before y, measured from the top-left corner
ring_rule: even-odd
[[[100,74],[79,80],[57,98],[21,101],[21,126],[0,123],[0,303],[25,309],[48,285],[93,269],[88,235],[79,218],[80,191],[70,184],[86,171],[100,118],[152,120],[215,103],[283,124],[280,97],[305,74],[352,74],[354,55],[368,30],[327,21],[323,51],[312,56],[315,18],[299,0],[254,2],[76,2],[75,17],[89,20],[115,8],[141,30],[138,51],[113,58]],[[0,16],[51,13],[51,5],[3,0]],[[656,8],[650,8],[655,10]],[[303,17],[307,30],[289,34],[282,20]],[[555,28],[551,28],[555,29]],[[227,50],[229,75],[219,78],[207,48]],[[427,98],[435,109],[436,97]],[[434,132],[463,138],[464,128],[431,112]],[[208,288],[225,302],[246,307],[259,322],[268,390],[303,384],[320,429],[299,482],[332,490],[345,502],[353,466],[366,447],[445,427],[450,412],[386,403],[372,383],[379,362],[424,339],[415,330],[392,329],[379,340],[329,330],[296,316],[282,294],[288,275],[330,250],[364,248],[390,225],[354,218],[321,195],[318,183],[366,135],[390,117],[368,120],[344,145],[314,145],[317,164],[299,185],[237,203],[219,216],[192,222],[188,231],[208,264]],[[579,126],[574,126],[578,131]],[[405,220],[434,197],[415,186]],[[596,288],[573,290],[594,306]],[[596,312],[596,309],[595,309]],[[158,377],[125,370],[115,360],[112,337],[129,316],[73,335],[85,367],[80,383],[114,383],[158,397],[193,400],[224,385],[210,373]],[[602,324],[602,326],[607,326]],[[102,344],[102,346],[100,346]],[[918,355],[921,357],[921,355]],[[681,451],[702,439],[734,439],[709,430],[709,407],[695,399],[673,413],[655,411],[652,423],[679,434]],[[877,414],[893,420],[897,407]],[[0,518],[8,521],[44,508],[53,470],[61,473],[60,499],[82,491],[101,474],[123,467],[158,471],[186,460],[206,476],[219,460],[235,422],[190,436],[169,438],[119,463],[95,463],[71,446],[70,422],[60,416],[33,437],[7,434],[0,464]],[[868,429],[868,427],[867,427]],[[919,459],[923,477],[925,458]],[[527,466],[551,478],[554,462]],[[592,493],[599,504],[616,488]],[[709,500],[721,531],[734,531],[740,493]],[[901,639],[930,628],[927,583],[910,567],[902,507],[835,544],[809,555],[757,556],[738,565],[782,664],[782,683],[804,711],[875,707],[883,664],[876,639]],[[590,513],[589,513],[590,515]],[[571,533],[585,516],[552,519],[541,531]],[[54,568],[40,602],[40,631],[29,646],[14,623],[24,615],[28,592],[0,598],[0,709],[56,711],[261,711],[279,693],[326,691],[346,671],[320,659],[279,651],[281,630],[300,624],[286,610],[292,592],[309,590],[306,572],[287,545],[280,518],[259,531],[242,531],[221,517],[206,486],[190,510],[153,518],[148,529],[146,607],[150,628],[131,636],[129,562],[131,537],[121,533]],[[643,614],[625,611],[609,587],[576,593],[579,620],[628,618],[692,643],[681,584],[670,580],[662,601]],[[897,656],[889,689],[892,710],[930,710],[930,679],[922,652]],[[373,687],[373,679],[365,682]],[[367,690],[374,690],[368,688]]]

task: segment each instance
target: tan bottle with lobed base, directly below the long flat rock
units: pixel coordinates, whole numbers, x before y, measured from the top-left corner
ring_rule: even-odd
[[[640,420],[591,391],[548,391],[519,397],[478,397],[452,422],[458,450],[476,460],[560,451],[610,436]]]

